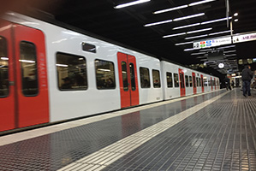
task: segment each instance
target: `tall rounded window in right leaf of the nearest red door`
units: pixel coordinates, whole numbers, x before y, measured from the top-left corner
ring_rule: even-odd
[[[20,50],[22,93],[24,96],[37,96],[39,80],[36,46],[31,42],[21,41]]]

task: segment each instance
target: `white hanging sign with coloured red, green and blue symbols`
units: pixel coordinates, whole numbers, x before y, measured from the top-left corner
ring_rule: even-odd
[[[193,42],[193,49],[210,48],[223,44],[232,44],[231,37],[214,38],[200,42]]]

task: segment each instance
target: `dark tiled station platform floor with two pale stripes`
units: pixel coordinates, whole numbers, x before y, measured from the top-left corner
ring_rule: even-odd
[[[0,137],[0,170],[256,170],[256,91],[181,97]]]

